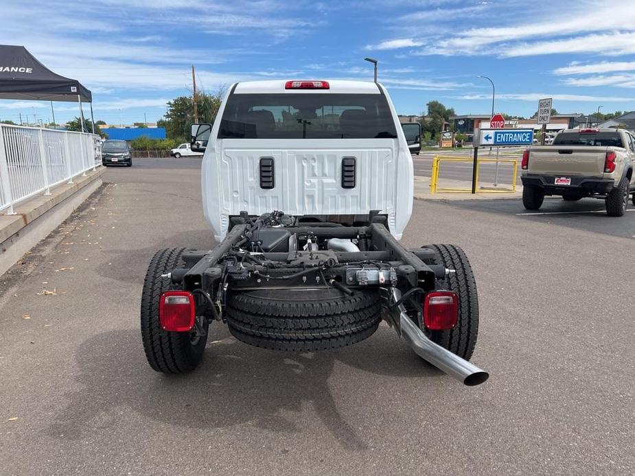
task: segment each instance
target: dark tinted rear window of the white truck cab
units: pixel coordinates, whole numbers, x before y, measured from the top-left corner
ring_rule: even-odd
[[[218,139],[396,139],[382,94],[232,94]]]

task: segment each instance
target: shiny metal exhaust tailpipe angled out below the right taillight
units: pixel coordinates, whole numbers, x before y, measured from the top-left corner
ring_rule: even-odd
[[[400,294],[398,289],[393,288],[395,302],[400,298]],[[450,377],[460,380],[465,385],[481,385],[489,378],[489,374],[485,370],[476,367],[465,359],[461,359],[450,350],[428,339],[426,334],[408,316],[403,305],[399,305],[398,309],[400,314],[400,334],[406,338],[408,344],[411,345],[419,357],[430,362],[439,370],[443,370]]]

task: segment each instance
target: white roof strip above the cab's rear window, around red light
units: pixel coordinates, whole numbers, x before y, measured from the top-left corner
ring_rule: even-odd
[[[260,94],[260,93],[292,93],[292,94],[314,94],[314,93],[332,93],[332,94],[380,94],[380,85],[368,81],[348,81],[348,80],[317,80],[326,81],[329,84],[328,89],[286,89],[288,80],[268,80],[268,81],[245,81],[235,84],[234,94]],[[312,81],[309,80],[299,81]],[[232,86],[233,88],[233,86]]]

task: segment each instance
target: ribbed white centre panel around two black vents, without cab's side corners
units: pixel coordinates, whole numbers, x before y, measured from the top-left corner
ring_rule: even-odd
[[[394,160],[390,149],[251,150],[225,149],[220,161],[222,211],[260,215],[281,210],[290,215],[365,214],[393,209]],[[273,157],[275,187],[260,188],[260,157]],[[356,158],[356,187],[341,185],[342,158]]]

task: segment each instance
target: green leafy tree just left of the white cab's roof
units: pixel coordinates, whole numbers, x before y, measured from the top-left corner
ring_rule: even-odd
[[[198,122],[212,123],[220,108],[222,91],[216,94],[198,93],[196,95],[196,109]],[[189,126],[194,123],[194,104],[192,97],[179,96],[168,102],[165,119],[157,121],[157,126],[165,127],[170,139],[179,142],[189,141]]]

